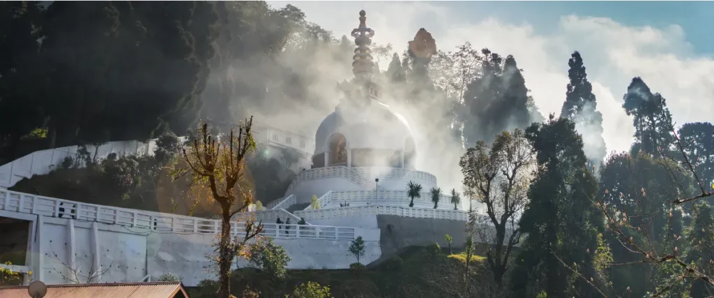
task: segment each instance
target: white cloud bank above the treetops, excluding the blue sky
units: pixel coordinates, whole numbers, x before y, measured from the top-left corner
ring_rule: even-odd
[[[272,2],[275,6],[285,3]],[[308,20],[348,34],[365,9],[368,26],[379,44],[403,51],[420,27],[429,30],[440,49],[464,41],[499,54],[513,54],[525,70],[526,84],[543,114],[559,113],[565,99],[568,59],[578,50],[603,113],[608,152],[626,150],[632,141],[632,121],[622,97],[633,76],[641,76],[653,91],[668,99],[675,121],[714,121],[714,61],[696,56],[680,26],[625,26],[607,18],[561,16],[555,31],[539,34],[531,24],[503,19],[455,19],[446,4],[433,2],[296,2]],[[386,65],[384,65],[386,66]]]

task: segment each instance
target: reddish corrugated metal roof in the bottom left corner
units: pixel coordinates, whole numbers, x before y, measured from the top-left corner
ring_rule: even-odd
[[[174,298],[179,292],[185,293],[180,282],[48,284],[44,298]],[[27,287],[0,287],[0,298],[25,297],[30,297]]]

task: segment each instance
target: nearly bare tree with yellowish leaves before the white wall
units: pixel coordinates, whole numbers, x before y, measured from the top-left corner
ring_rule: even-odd
[[[221,208],[221,233],[218,239],[218,297],[231,295],[231,267],[233,259],[246,249],[246,242],[263,230],[262,222],[256,224],[251,217],[245,220],[243,236],[231,237],[231,219],[239,212],[245,212],[253,203],[251,189],[243,184],[243,170],[246,157],[255,149],[251,128],[253,117],[242,121],[238,131],[212,136],[207,124],[202,124],[189,148],[183,148],[183,160],[178,161],[171,171],[174,179],[188,175],[189,191],[184,197],[193,199],[194,206],[207,199]],[[238,233],[236,233],[237,235]]]

